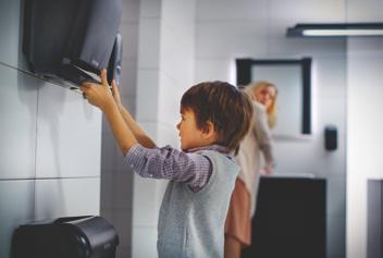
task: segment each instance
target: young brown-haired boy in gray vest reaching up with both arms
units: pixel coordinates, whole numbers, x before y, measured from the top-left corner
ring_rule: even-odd
[[[239,168],[231,157],[251,120],[250,100],[234,86],[207,82],[181,100],[177,124],[182,151],[153,142],[121,105],[106,71],[102,85],[84,83],[89,103],[106,115],[126,164],[144,177],[168,179],[158,224],[158,253],[164,258],[223,257],[224,221]]]

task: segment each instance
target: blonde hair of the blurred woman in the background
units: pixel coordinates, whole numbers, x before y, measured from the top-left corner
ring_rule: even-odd
[[[256,99],[256,96],[262,91],[264,88],[272,87],[275,89],[275,96],[272,99],[271,107],[267,109],[267,114],[268,114],[268,123],[270,128],[275,127],[276,125],[276,113],[277,113],[277,103],[276,103],[276,98],[277,98],[277,88],[275,87],[274,84],[268,82],[268,81],[258,81],[249,84],[246,86],[245,91],[247,94],[250,94],[251,98],[254,100]]]

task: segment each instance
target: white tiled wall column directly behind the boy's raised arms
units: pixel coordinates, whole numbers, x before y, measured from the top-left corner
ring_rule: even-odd
[[[158,146],[178,147],[180,100],[194,76],[195,3],[141,0],[136,120]],[[132,257],[157,257],[157,223],[168,182],[134,176]]]

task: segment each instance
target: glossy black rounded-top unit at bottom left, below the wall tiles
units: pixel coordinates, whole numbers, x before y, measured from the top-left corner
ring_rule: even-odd
[[[12,258],[114,258],[119,235],[102,217],[59,218],[18,226]]]

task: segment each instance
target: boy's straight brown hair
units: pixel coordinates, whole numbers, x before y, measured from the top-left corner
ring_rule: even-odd
[[[250,127],[252,105],[250,98],[225,82],[205,82],[192,86],[181,99],[181,111],[193,110],[197,127],[207,130],[214,125],[215,144],[235,150]]]

